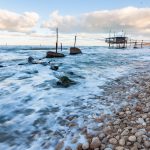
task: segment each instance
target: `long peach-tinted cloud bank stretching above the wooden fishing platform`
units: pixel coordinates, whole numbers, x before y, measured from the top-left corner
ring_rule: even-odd
[[[62,16],[58,11],[42,27],[55,30],[56,27],[65,33],[86,32],[106,33],[110,29],[131,33],[150,33],[150,8],[126,7],[115,10],[101,10],[79,16]]]

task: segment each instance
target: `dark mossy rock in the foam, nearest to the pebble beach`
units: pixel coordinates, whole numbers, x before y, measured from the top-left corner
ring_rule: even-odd
[[[57,85],[65,88],[69,87],[72,84],[75,84],[75,82],[73,80],[70,80],[67,76],[60,77],[59,81],[57,82]]]

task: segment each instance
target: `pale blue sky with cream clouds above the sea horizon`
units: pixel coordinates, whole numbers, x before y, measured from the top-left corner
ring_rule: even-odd
[[[0,45],[103,45],[122,30],[149,40],[150,0],[0,0]]]

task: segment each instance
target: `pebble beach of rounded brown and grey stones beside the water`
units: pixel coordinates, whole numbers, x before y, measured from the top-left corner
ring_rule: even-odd
[[[106,84],[103,95],[96,98],[115,99],[118,105],[125,99],[126,104],[114,110],[113,115],[97,118],[103,123],[98,135],[93,136],[85,129],[88,140],[78,144],[77,150],[150,150],[150,71],[140,71]],[[60,147],[59,143],[56,149]]]

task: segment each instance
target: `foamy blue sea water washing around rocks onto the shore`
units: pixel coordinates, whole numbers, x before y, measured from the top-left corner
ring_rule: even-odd
[[[59,65],[27,64],[27,58],[43,58],[47,50],[29,47],[0,48],[0,149],[53,149],[60,139],[74,147],[84,141],[81,130],[96,130],[93,117],[111,114],[125,104],[95,99],[103,85],[147,66],[150,49],[81,47],[83,54],[61,59],[43,59]],[[62,88],[58,77],[66,75],[76,84]],[[114,101],[114,103],[113,103]],[[72,139],[78,139],[72,142]]]

